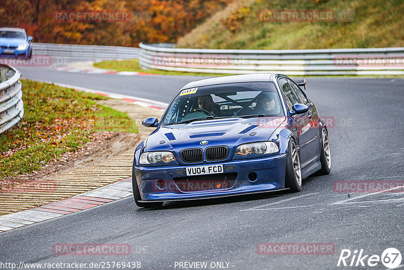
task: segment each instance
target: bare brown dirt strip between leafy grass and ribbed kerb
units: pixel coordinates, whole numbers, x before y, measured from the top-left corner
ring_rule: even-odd
[[[93,137],[93,141],[85,144],[77,152],[67,152],[38,171],[4,177],[0,182],[0,190],[7,190],[25,182],[52,179],[58,172],[97,164],[131,149],[134,152],[137,144],[140,143],[139,134],[129,132],[105,131],[94,134]]]

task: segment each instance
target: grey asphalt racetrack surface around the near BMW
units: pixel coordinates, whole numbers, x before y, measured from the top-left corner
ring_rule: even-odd
[[[193,76],[118,76],[19,68],[55,81],[169,102]],[[404,252],[404,193],[339,193],[336,181],[403,181],[404,79],[309,78],[307,94],[329,126],[331,174],[305,179],[299,193],[165,203],[138,208],[132,197],[0,234],[1,262],[228,262],[230,269],[385,269],[337,267],[342,249]],[[126,243],[129,255],[56,256],[58,243]],[[332,255],[261,255],[259,243],[332,243]],[[359,253],[359,252],[358,252]],[[367,263],[367,259],[364,260]],[[403,256],[404,257],[404,256]],[[352,256],[346,259],[350,263]],[[355,260],[356,263],[356,260]],[[403,261],[400,267],[403,267]],[[226,265],[226,264],[225,264]],[[117,268],[117,267],[115,267]]]

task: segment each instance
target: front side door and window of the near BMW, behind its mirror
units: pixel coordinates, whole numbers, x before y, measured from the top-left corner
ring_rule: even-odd
[[[306,104],[305,101],[302,101],[297,96],[288,78],[280,78],[278,83],[289,111],[292,111],[294,104]],[[310,140],[312,139],[312,133],[310,132],[312,120],[309,117],[309,112],[294,114],[291,118],[294,120],[297,128],[298,145],[300,146],[300,165],[303,168],[311,162],[312,153],[309,147],[306,146],[310,144]]]

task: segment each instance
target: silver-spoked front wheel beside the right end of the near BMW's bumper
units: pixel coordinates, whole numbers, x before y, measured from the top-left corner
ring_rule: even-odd
[[[296,172],[297,168],[298,172]],[[293,139],[289,141],[287,148],[285,188],[289,188],[291,192],[299,192],[301,190],[300,159],[296,143]]]

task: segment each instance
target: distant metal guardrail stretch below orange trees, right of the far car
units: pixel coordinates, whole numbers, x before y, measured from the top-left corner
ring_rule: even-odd
[[[32,55],[90,59],[131,59],[139,56],[139,48],[73,44],[32,43]]]

